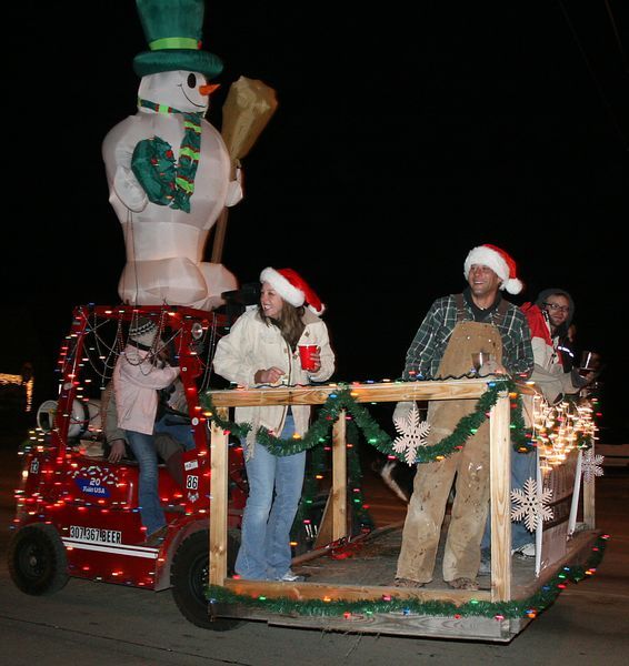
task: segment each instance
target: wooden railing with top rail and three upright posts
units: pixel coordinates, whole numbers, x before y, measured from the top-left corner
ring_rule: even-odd
[[[479,398],[487,391],[486,380],[447,380],[440,382],[382,382],[343,385],[358,403]],[[327,402],[340,386],[234,389],[212,391],[211,400],[220,418],[237,406],[318,405]],[[526,387],[523,387],[526,391]],[[490,501],[491,501],[491,601],[511,598],[511,521],[510,521],[510,407],[509,395],[500,392],[490,411]],[[223,586],[227,579],[228,531],[228,433],[211,427],[211,585]],[[332,539],[347,536],[347,462],[345,412],[332,432]],[[308,586],[308,583],[298,586]],[[476,593],[479,597],[479,593]]]

